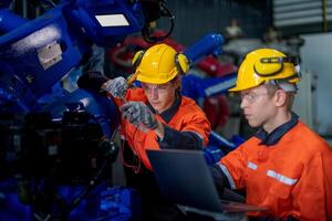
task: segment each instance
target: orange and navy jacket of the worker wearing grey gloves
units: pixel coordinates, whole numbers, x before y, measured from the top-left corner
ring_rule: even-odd
[[[114,99],[117,106],[122,105],[122,99]],[[125,101],[144,102],[147,106],[149,106],[144,91],[139,87],[129,88],[126,93]],[[122,137],[125,139],[135,155],[137,155],[137,157],[142,160],[144,166],[149,170],[152,170],[152,166],[148,161],[146,149],[195,149],[195,147],[203,147],[208,143],[210,124],[205,113],[191,98],[179,96],[177,101],[178,104],[173,105],[169,109],[166,110],[166,113],[163,113],[163,116],[155,113],[156,119],[160,120],[165,126],[165,135],[163,140],[158,139],[155,131],[151,129],[142,129],[122,118]],[[151,107],[151,109],[152,112],[154,112],[153,107]],[[179,137],[180,133],[190,133],[199,141],[185,144],[186,141],[181,140],[181,138]]]

